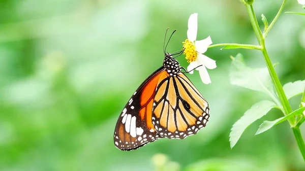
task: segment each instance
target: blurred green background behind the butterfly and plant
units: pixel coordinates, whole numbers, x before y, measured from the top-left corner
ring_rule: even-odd
[[[271,22],[281,3],[256,0],[254,8]],[[284,11],[302,8],[291,0]],[[254,50],[209,49],[205,54],[218,65],[209,71],[212,83],[188,75],[210,106],[209,124],[198,134],[130,152],[114,147],[121,110],[162,64],[166,28],[177,29],[167,51],[181,49],[194,12],[197,40],[257,44],[237,0],[1,0],[0,170],[305,170],[288,123],[254,136],[263,120],[282,117],[277,110],[230,149],[233,123],[267,98],[229,82],[230,55],[242,53],[251,67],[265,65]],[[283,14],[267,38],[282,84],[305,79],[304,21]],[[178,60],[187,66],[184,56]],[[292,99],[294,109],[299,99]]]

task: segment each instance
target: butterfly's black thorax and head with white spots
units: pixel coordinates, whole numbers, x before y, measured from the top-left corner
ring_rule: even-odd
[[[179,62],[169,53],[165,54],[163,66],[166,68],[166,71],[170,76],[181,74],[181,67]]]

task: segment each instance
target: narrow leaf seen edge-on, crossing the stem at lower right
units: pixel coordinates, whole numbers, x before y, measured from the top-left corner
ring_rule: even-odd
[[[282,118],[276,119],[274,121],[264,121],[258,128],[257,132],[255,133],[255,135],[260,134],[268,129],[270,129],[272,126],[275,126],[283,121],[286,121],[289,118],[292,118],[296,115],[301,115],[302,112],[305,110],[305,107],[297,109],[293,112],[291,112],[289,115],[284,116]]]

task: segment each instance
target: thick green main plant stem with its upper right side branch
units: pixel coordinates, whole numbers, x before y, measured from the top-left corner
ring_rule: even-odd
[[[266,46],[265,46],[265,37],[266,37],[267,33],[269,32],[269,30],[271,29],[271,27],[273,26],[273,24],[275,24],[275,22],[277,21],[280,13],[282,12],[282,10],[284,8],[285,3],[286,3],[286,0],[284,0],[277,16],[275,17],[275,19],[273,19],[272,23],[268,27],[264,36],[262,35],[262,32],[259,28],[257,18],[256,18],[255,13],[254,13],[253,6],[252,5],[245,5],[245,6],[246,6],[247,12],[249,14],[250,21],[251,21],[251,24],[253,26],[253,29],[254,29],[255,35],[257,37],[257,40],[262,47],[261,51],[263,52],[263,56],[264,56],[266,65],[268,67],[268,71],[269,71],[272,83],[276,88],[276,91],[277,91],[278,96],[280,98],[281,104],[284,108],[284,115],[288,115],[292,112],[292,110],[291,110],[290,104],[288,102],[288,99],[286,97],[286,94],[284,93],[283,86],[282,86],[282,84],[279,80],[279,77],[278,77],[278,75],[277,75],[277,73],[276,73],[276,71],[275,71],[275,69],[272,65],[272,62],[269,58],[269,55],[267,53]],[[292,131],[293,131],[295,140],[296,140],[297,145],[299,147],[299,150],[300,150],[300,152],[303,156],[303,159],[305,160],[305,144],[304,144],[304,141],[302,139],[300,129],[299,129],[298,126],[295,126],[296,120],[294,118],[290,118],[288,121],[289,121],[290,125],[292,126]]]

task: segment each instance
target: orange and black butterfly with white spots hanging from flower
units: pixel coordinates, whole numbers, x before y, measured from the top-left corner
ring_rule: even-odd
[[[165,53],[168,42],[163,65],[139,86],[119,115],[114,145],[120,150],[135,150],[161,138],[185,139],[208,122],[207,101],[175,59],[184,50]]]

